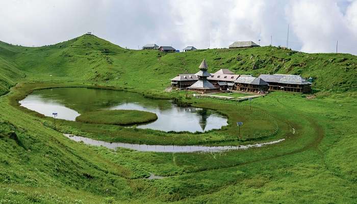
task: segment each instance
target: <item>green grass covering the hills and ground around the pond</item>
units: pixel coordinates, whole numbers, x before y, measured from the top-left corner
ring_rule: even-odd
[[[203,57],[212,72],[229,68],[241,74],[314,76],[314,86],[320,92],[314,99],[270,93],[254,99],[253,111],[248,112],[248,101],[236,104],[163,91],[177,73],[196,72]],[[350,54],[308,54],[276,47],[163,54],[126,50],[87,35],[38,48],[0,43],[0,89],[2,94],[10,91],[0,97],[0,203],[354,203],[355,62],[356,56]],[[54,75],[52,83],[49,74]],[[238,144],[238,140],[229,140],[236,134],[235,122],[247,121],[242,131],[267,129],[270,123],[249,125],[250,114],[256,118],[263,112],[278,121],[282,132],[276,137],[286,136],[286,140],[211,154],[111,151],[72,141],[55,131],[48,118],[17,104],[34,89],[108,89],[109,85],[114,86],[109,89],[150,98],[175,97],[182,103],[217,109],[228,116],[230,125],[203,134],[66,121],[59,121],[59,127],[107,141],[150,143],[175,138],[175,143],[187,144],[190,137],[192,143]],[[143,179],[150,172],[167,178]]]

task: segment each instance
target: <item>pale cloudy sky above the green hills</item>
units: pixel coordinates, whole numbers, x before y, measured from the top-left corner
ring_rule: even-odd
[[[234,41],[357,54],[357,0],[0,0],[0,41],[55,44],[91,31],[122,47]]]

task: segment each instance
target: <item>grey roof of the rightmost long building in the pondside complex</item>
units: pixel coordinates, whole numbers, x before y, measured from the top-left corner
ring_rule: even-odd
[[[275,83],[287,83],[287,84],[311,84],[305,78],[300,75],[292,74],[261,74],[261,77],[266,82],[275,82]]]

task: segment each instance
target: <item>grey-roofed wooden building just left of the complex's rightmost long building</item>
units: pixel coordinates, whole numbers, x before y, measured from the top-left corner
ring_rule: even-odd
[[[242,92],[267,91],[268,83],[259,77],[240,76],[235,82],[235,88]]]

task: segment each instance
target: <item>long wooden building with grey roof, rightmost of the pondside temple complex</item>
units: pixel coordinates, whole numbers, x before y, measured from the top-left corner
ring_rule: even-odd
[[[259,76],[269,84],[269,91],[311,93],[311,82],[300,75],[291,74],[261,74]]]

